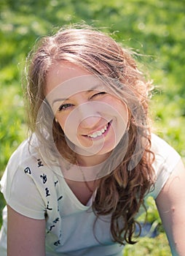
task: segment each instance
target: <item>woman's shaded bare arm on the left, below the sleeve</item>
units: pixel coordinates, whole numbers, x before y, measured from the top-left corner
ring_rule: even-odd
[[[45,220],[31,219],[8,209],[7,256],[44,256]]]

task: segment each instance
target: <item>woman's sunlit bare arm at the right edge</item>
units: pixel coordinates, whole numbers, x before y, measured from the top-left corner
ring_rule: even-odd
[[[185,253],[185,168],[180,161],[158,195],[157,208],[173,256]]]

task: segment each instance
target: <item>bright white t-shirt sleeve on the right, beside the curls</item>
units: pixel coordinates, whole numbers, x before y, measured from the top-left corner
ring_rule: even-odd
[[[181,157],[174,148],[157,135],[151,137],[151,151],[155,154],[153,167],[156,173],[156,182],[149,195],[156,199]]]

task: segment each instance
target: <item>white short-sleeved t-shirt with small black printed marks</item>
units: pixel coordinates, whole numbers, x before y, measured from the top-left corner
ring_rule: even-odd
[[[151,150],[155,154],[157,181],[149,195],[156,198],[180,156],[156,135],[152,135]],[[123,246],[111,239],[110,216],[102,216],[95,222],[92,198],[86,206],[80,203],[66,184],[60,167],[46,165],[38,151],[28,147],[27,140],[12,154],[0,184],[7,204],[18,213],[33,219],[45,219],[47,212],[47,256],[122,255]],[[4,208],[1,256],[7,256],[6,248],[7,208]]]

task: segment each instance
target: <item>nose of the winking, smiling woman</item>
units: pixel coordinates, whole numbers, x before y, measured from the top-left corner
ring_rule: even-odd
[[[95,127],[102,118],[99,111],[96,110],[95,105],[90,103],[82,104],[78,108],[79,127],[84,129]]]

